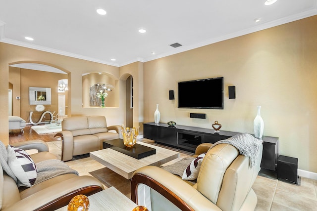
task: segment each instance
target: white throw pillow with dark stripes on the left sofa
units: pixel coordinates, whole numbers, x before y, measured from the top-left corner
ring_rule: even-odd
[[[27,152],[17,147],[8,146],[8,165],[13,171],[16,178],[18,178],[20,186],[31,187],[37,177],[37,170],[35,163]]]

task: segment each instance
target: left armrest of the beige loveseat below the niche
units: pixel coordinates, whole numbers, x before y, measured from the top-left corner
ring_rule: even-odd
[[[61,147],[61,160],[69,161],[73,158],[74,137],[73,133],[69,130],[62,130],[54,135],[60,137],[62,142]]]

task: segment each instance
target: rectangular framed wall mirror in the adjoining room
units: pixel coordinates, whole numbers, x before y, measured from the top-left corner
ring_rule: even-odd
[[[51,105],[51,88],[29,87],[30,105]]]

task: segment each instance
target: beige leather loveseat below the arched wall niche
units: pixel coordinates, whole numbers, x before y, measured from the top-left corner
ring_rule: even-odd
[[[61,123],[62,131],[55,134],[62,139],[61,160],[102,149],[104,140],[119,138],[121,126],[109,126],[104,116],[69,117]],[[109,132],[115,130],[115,132]]]

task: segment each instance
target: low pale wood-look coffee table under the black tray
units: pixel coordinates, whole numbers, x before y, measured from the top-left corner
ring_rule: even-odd
[[[117,139],[121,141],[122,139]],[[122,140],[123,141],[123,140]],[[145,166],[160,166],[179,157],[179,153],[156,145],[137,142],[143,146],[156,149],[156,153],[147,157],[136,159],[111,148],[90,153],[90,157],[116,172],[126,179],[131,179],[134,171]]]

